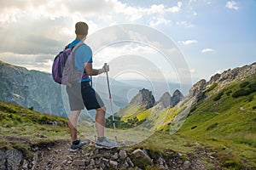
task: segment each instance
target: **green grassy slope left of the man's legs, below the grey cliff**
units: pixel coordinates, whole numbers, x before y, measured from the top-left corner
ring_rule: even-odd
[[[9,139],[44,139],[68,137],[67,119],[41,114],[10,103],[0,101],[0,148],[12,147]]]

